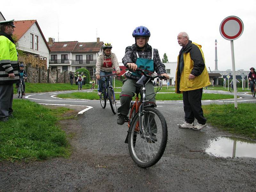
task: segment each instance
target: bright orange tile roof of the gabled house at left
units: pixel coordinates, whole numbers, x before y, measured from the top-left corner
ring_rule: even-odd
[[[39,29],[48,50],[51,51],[46,39],[44,38],[44,34],[36,20],[14,21],[14,25],[16,26],[16,28],[14,29],[13,35],[16,35],[19,40],[34,23],[36,23],[36,26]]]

